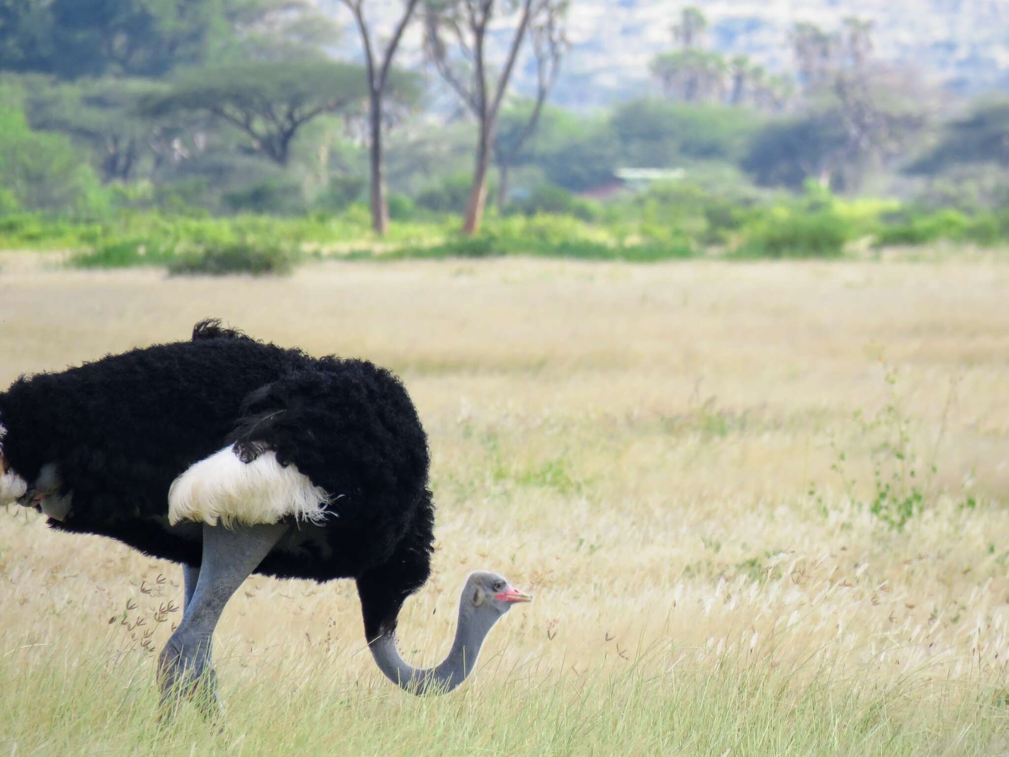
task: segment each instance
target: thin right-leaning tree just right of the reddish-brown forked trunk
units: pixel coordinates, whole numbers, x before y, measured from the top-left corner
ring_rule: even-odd
[[[530,137],[536,133],[540,114],[547,96],[557,83],[561,70],[561,60],[568,49],[565,28],[567,0],[545,7],[530,26],[533,55],[536,59],[536,97],[525,123],[507,136],[498,134],[494,142],[494,163],[497,165],[497,210],[502,210],[508,200],[509,171],[522,152]]]

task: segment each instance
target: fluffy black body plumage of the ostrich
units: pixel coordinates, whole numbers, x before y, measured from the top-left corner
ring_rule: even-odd
[[[30,482],[55,464],[72,493],[66,519],[49,519],[61,531],[198,566],[200,528],[170,526],[169,488],[232,444],[244,461],[272,450],[332,497],[321,525],[299,522],[255,572],[357,579],[369,639],[429,575],[427,437],[401,382],[366,360],[204,321],[191,341],[20,377],[0,394],[0,424],[11,469]]]

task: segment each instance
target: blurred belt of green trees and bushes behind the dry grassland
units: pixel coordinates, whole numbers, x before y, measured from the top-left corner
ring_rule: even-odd
[[[405,0],[383,35],[367,0],[335,5],[350,23],[308,0],[0,0],[0,246],[264,273],[1009,238],[1009,97],[876,60],[866,20],[795,24],[772,73],[676,6],[653,96],[574,110],[550,103],[564,0]],[[507,52],[478,60],[489,26]]]

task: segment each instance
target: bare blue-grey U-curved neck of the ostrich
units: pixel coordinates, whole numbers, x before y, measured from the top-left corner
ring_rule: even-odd
[[[472,672],[480,646],[499,617],[489,608],[466,608],[464,597],[452,649],[435,667],[416,668],[406,662],[397,649],[395,631],[382,633],[368,646],[378,669],[401,688],[416,694],[444,693],[458,686]]]

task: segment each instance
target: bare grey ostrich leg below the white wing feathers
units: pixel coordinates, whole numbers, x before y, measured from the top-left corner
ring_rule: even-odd
[[[285,523],[203,527],[203,562],[196,589],[183,622],[157,659],[162,705],[171,701],[174,692],[192,692],[198,683],[205,683],[209,696],[215,697],[213,671],[209,669],[214,628],[228,600],[288,528]]]

